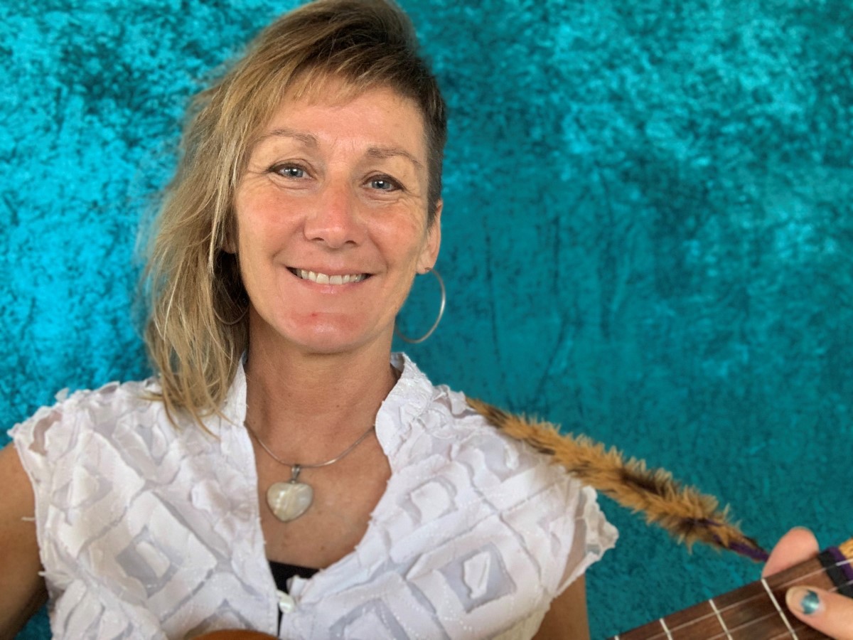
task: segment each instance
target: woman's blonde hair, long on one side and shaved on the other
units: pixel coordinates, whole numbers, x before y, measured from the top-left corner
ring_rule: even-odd
[[[444,100],[418,54],[409,18],[391,0],[318,0],[264,29],[222,79],[194,96],[175,177],[155,220],[144,273],[145,341],[174,421],[223,404],[248,346],[249,301],[233,210],[252,138],[285,94],[324,79],[353,91],[389,87],[420,108],[427,137],[428,216],[435,218],[447,137]]]

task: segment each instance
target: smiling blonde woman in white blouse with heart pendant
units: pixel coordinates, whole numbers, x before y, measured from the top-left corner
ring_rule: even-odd
[[[391,354],[445,136],[378,1],[294,11],[199,96],[149,262],[157,378],[0,453],[0,633],[47,591],[59,637],[589,635],[594,492]]]

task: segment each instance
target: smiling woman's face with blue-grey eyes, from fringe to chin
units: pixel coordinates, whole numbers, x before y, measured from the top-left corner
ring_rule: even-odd
[[[285,98],[235,195],[252,342],[322,353],[390,345],[415,273],[438,257],[427,183],[423,119],[409,99],[351,97],[334,81]]]

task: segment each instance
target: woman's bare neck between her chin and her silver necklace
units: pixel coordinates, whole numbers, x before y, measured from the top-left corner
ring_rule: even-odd
[[[311,463],[334,453],[374,423],[397,381],[390,352],[390,339],[335,354],[250,340],[246,422],[282,456]]]

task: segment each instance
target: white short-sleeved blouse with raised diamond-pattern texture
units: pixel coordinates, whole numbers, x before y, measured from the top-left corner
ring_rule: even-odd
[[[264,553],[237,372],[224,420],[174,428],[154,381],[74,393],[10,434],[36,495],[59,638],[529,638],[616,530],[595,492],[402,355],[376,416],[392,469],[364,538],[290,598]]]

